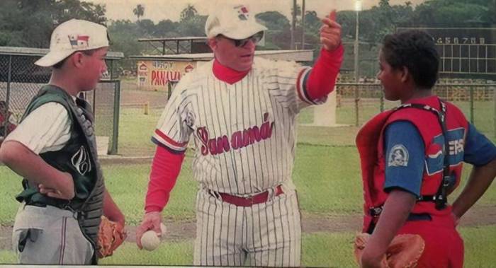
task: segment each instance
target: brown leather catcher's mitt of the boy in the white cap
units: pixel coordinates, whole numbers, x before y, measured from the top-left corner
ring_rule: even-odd
[[[100,229],[98,231],[98,257],[111,256],[127,236],[123,226],[109,221],[106,216],[101,216]]]

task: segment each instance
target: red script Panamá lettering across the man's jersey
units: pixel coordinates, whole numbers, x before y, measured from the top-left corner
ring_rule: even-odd
[[[232,133],[230,139],[227,135],[222,135],[210,139],[208,129],[206,127],[198,127],[196,130],[198,137],[202,143],[201,154],[203,156],[215,156],[219,153],[225,153],[231,150],[244,148],[255,142],[269,139],[272,136],[274,129],[274,121],[269,122],[269,112],[264,113],[264,122],[260,126],[253,126],[247,129],[238,130]]]

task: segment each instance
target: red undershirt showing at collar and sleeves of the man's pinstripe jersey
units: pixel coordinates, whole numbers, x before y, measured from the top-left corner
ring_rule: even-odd
[[[323,98],[334,89],[343,54],[342,45],[332,52],[321,49],[320,57],[315,62],[305,86],[310,99]],[[236,83],[246,76],[248,72],[235,71],[227,66],[222,66],[217,59],[213,64],[215,77],[226,83]],[[169,201],[170,192],[176,184],[183,160],[184,153],[171,153],[167,148],[157,146],[145,199],[146,212],[162,211],[164,209],[164,206]]]

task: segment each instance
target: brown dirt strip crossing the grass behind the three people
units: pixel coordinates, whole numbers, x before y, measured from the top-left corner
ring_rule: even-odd
[[[302,215],[303,233],[341,233],[361,230],[362,217],[359,214],[344,216]],[[194,221],[166,221],[166,240],[193,239],[196,236]],[[496,225],[496,205],[475,206],[461,220],[460,226],[490,226]],[[134,243],[136,226],[128,226],[128,242]],[[11,249],[12,226],[0,226],[0,250]]]

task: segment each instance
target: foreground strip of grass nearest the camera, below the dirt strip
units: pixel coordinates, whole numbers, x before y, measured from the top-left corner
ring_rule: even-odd
[[[496,262],[496,227],[461,228],[465,241],[465,267],[492,268]],[[356,267],[352,255],[354,233],[312,233],[303,235],[302,265],[305,267]],[[0,263],[15,263],[16,256],[8,250],[0,251]],[[152,251],[138,251],[133,243],[124,243],[111,257],[101,260],[103,265],[191,265],[193,240],[162,242]]]

